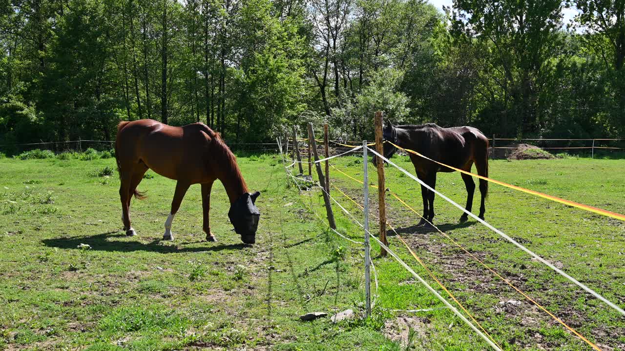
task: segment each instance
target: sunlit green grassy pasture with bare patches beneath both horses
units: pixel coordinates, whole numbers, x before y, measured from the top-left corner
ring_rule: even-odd
[[[414,349],[488,348],[394,260],[378,257],[376,245],[376,306],[370,319],[362,319],[361,247],[326,231],[309,210],[323,216],[319,192],[298,194],[275,156],[239,157],[251,190],[262,192],[253,246],[242,245],[232,231],[219,185],[211,201],[211,229],[219,242],[203,240],[199,185],[189,189],[176,215],[176,240],[162,242],[175,183],[153,172],[139,185],[148,199],[133,200],[138,236],[126,237],[117,174],[101,176],[114,169],[114,159],[66,158],[0,159],[0,349],[399,350],[406,344],[406,325],[414,330]],[[344,172],[362,177],[357,157],[334,160]],[[413,171],[407,157],[394,160]],[[569,158],[491,161],[490,174],[623,213],[623,169],[621,160]],[[362,201],[362,185],[331,175],[333,184]],[[375,177],[371,174],[371,184]],[[416,182],[387,168],[387,186],[421,209]],[[466,200],[457,173],[439,174],[437,189],[461,204]],[[490,190],[487,221],[625,305],[623,222],[497,185]],[[356,205],[338,192],[332,195],[362,217]],[[376,199],[371,194],[374,206]],[[601,349],[625,350],[623,317],[486,227],[472,220],[459,224],[459,210],[443,202],[436,199],[434,221],[446,234]],[[392,197],[387,205],[390,224],[504,349],[590,349],[446,237],[414,227],[419,218]],[[339,231],[360,240],[359,227],[334,210]],[[389,242],[427,277],[396,237]],[[358,318],[338,324],[298,318],[345,309]],[[394,311],[406,309],[434,310]]]

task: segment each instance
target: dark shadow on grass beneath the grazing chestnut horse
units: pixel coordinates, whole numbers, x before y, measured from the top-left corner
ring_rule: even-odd
[[[185,244],[195,244],[195,242],[176,242],[171,245],[163,245],[163,240],[155,239],[151,242],[145,243],[137,240],[133,241],[118,241],[114,239],[121,239],[126,237],[125,234],[119,231],[106,232],[96,235],[85,235],[80,237],[60,237],[56,239],[44,239],[41,242],[47,247],[58,247],[59,249],[78,249],[80,244],[88,244],[91,246],[91,250],[94,251],[109,251],[109,252],[134,252],[134,251],[148,251],[159,252],[161,254],[183,254],[187,252],[219,252],[221,250],[237,250],[249,247],[246,244],[217,244],[206,242],[202,247],[180,247]],[[113,239],[113,240],[111,240]]]

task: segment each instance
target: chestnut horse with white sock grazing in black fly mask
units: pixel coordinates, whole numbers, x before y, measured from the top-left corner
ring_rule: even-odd
[[[211,233],[208,212],[211,209],[212,183],[219,179],[230,199],[228,217],[237,234],[245,244],[254,244],[260,212],[256,198],[260,192],[251,194],[236,163],[236,157],[224,144],[219,133],[202,123],[184,127],[171,127],[152,119],[120,122],[115,141],[121,199],[122,220],[126,235],[136,235],[130,224],[130,200],[133,195],[143,199],[137,190],[148,169],[178,180],[171,202],[171,212],[165,221],[163,240],[174,240],[171,223],[178,212],[184,194],[191,184],[202,184],[202,210],[206,240],[217,241]]]

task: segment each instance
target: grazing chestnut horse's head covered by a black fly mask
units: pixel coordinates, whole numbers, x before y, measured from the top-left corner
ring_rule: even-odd
[[[249,193],[241,195],[236,200],[228,211],[228,218],[234,226],[234,231],[241,235],[241,241],[244,244],[254,244],[256,242],[256,229],[258,229],[258,220],[261,217],[261,212],[256,207],[256,198],[260,195],[260,192]]]

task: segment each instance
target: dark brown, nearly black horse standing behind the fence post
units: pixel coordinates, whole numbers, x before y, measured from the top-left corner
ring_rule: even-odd
[[[393,126],[387,122],[382,130],[384,140],[391,141],[399,147],[419,152],[434,161],[447,164],[462,171],[471,172],[471,166],[475,163],[477,174],[488,177],[488,139],[476,128],[473,127],[451,127],[442,128],[433,123],[421,126]],[[384,143],[384,157],[391,158],[397,148]],[[408,154],[417,177],[427,185],[436,186],[437,172],[454,172],[449,167],[441,166],[435,162],[426,160],[415,154]],[[373,162],[376,163],[377,157]],[[462,180],[467,189],[466,210],[471,212],[473,205],[473,193],[475,182],[471,175],[461,173]],[[484,219],[484,199],[488,192],[488,182],[479,180],[479,192],[482,195],[479,207],[479,218]],[[421,185],[421,197],[423,199],[423,218],[419,225],[426,224],[426,219],[432,222],[434,218],[434,192]],[[461,222],[468,219],[466,213],[460,217]]]

